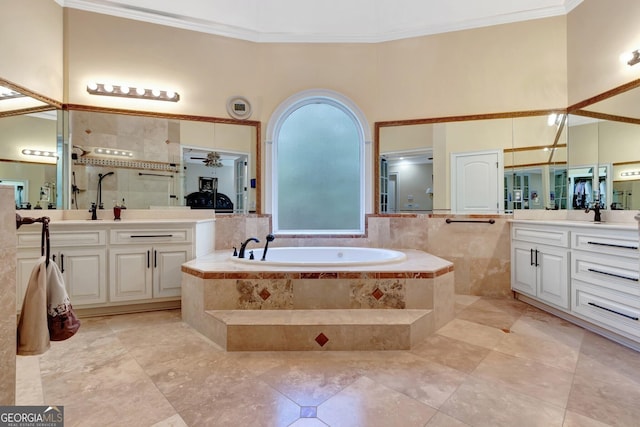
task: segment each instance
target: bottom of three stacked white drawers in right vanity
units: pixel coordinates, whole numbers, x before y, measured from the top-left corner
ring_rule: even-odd
[[[574,282],[575,313],[623,335],[640,338],[640,299],[621,292]]]

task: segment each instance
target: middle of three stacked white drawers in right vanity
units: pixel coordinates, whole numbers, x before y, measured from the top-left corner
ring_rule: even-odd
[[[638,261],[632,258],[573,251],[571,277],[608,289],[640,296]]]

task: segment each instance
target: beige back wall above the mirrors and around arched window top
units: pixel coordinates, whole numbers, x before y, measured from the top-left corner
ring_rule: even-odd
[[[326,88],[369,124],[566,105],[566,17],[379,44],[256,44],[66,10],[69,102],[226,117],[248,97],[267,122],[287,97]],[[177,104],[96,97],[91,80],[175,88]]]

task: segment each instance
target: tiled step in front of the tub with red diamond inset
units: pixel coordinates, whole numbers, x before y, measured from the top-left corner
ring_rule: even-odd
[[[210,338],[228,351],[408,350],[433,333],[431,310],[208,310],[206,314],[221,332]]]

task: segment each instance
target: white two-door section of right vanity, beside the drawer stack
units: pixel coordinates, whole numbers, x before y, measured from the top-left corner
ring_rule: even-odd
[[[568,241],[568,232],[562,229],[514,226],[512,289],[569,308]]]

